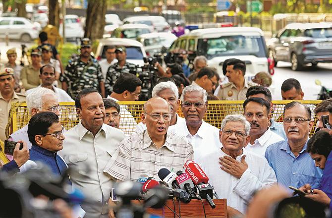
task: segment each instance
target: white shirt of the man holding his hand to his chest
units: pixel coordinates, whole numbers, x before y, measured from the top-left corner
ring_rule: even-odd
[[[246,156],[248,169],[239,179],[220,168],[219,158],[230,157],[221,149],[203,155],[196,160],[196,163],[203,168],[209,177],[209,183],[214,186],[220,199],[227,199],[227,206],[245,214],[253,194],[257,190],[275,184],[277,178],[265,158],[244,150],[242,155],[236,157],[236,161],[240,162],[243,155]]]

